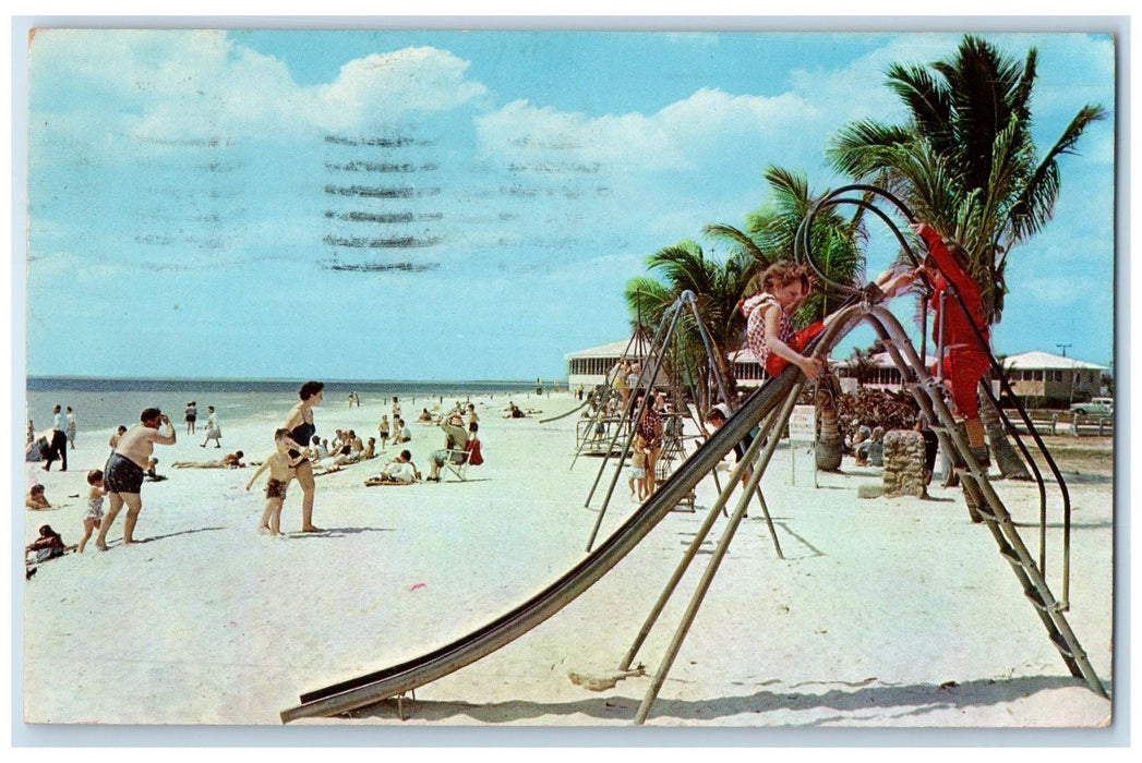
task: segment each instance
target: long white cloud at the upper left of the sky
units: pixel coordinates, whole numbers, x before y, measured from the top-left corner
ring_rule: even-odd
[[[209,30],[48,30],[30,60],[33,94],[53,109],[82,108],[51,98],[79,89],[80,100],[104,106],[83,109],[102,124],[121,130],[130,121],[131,135],[156,144],[369,130],[486,94],[465,79],[468,62],[427,47],[357,58],[332,82],[301,87],[282,60]]]

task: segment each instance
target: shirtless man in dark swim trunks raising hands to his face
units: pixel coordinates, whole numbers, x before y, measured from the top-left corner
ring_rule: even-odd
[[[131,427],[119,438],[114,452],[107,458],[107,465],[103,468],[103,484],[111,501],[103,523],[99,525],[99,536],[95,539],[95,545],[100,551],[107,550],[107,530],[114,523],[123,503],[127,504],[123,545],[135,542],[135,522],[138,521],[139,511],[143,509],[139,489],[143,487],[143,477],[151,461],[154,444],[175,444],[175,427],[159,408],[144,409],[139,414],[139,421],[142,423]],[[166,427],[168,433],[160,433],[160,427]]]

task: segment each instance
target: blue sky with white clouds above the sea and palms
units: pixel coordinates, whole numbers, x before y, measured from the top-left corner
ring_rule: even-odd
[[[843,185],[829,137],[899,117],[886,66],[959,36],[41,31],[27,373],[562,376],[628,335],[648,254],[719,255],[702,226],[743,225],[766,165]],[[1038,49],[1040,149],[1083,105],[1113,113],[1109,34],[983,36]],[[1110,363],[1113,128],[1063,159],[1055,219],[1012,254],[999,352]]]

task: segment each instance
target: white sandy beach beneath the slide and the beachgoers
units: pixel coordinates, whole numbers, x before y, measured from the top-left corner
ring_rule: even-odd
[[[282,521],[293,534],[273,539],[255,530],[264,498],[260,485],[244,490],[249,469],[170,468],[236,448],[263,457],[284,408],[226,422],[223,451],[203,451],[201,438],[185,436],[158,447],[169,479],[143,488],[136,537],[147,542],[121,546],[120,517],[110,551],[89,545],[82,555],[47,562],[26,585],[26,721],[276,724],[301,692],[416,657],[523,602],[582,558],[596,518],[584,502],[600,460],[582,457],[570,470],[577,417],[537,420],[573,407],[570,396],[532,398],[528,404],[544,414],[526,420],[501,419],[505,404],[480,400],[486,463],[466,484],[364,487],[393,446],[378,461],[320,477],[314,521],[329,528],[321,535],[296,533],[296,484]],[[331,401],[316,409],[319,432],[352,427],[375,435],[380,413]],[[427,454],[443,436],[411,428],[415,461],[427,473]],[[27,542],[41,523],[67,543],[79,541],[85,474],[102,468],[106,453],[72,452],[66,473],[26,465],[30,481],[45,482],[49,500],[66,504],[26,512]],[[1110,701],[1070,676],[958,492],[934,485],[931,501],[858,500],[858,485],[878,480],[874,470],[846,460],[847,474],[821,474],[814,488],[803,454],[790,486],[789,456],[779,449],[763,482],[785,560],[751,508],[649,724],[1093,728],[1109,721]],[[996,486],[1018,521],[1036,519],[1034,485]],[[1070,487],[1068,619],[1112,691],[1111,485]],[[403,723],[629,724],[649,677],[594,692],[569,673],[614,671],[714,498],[707,479],[697,512],[671,513],[538,628],[418,689]],[[633,510],[624,479],[601,538]],[[724,527],[715,525],[703,551]],[[1060,535],[1051,533],[1047,562],[1057,598]],[[1023,537],[1037,549],[1031,529]],[[643,647],[638,661],[648,673],[658,669],[708,559],[699,554]],[[355,720],[299,723],[402,721],[389,701]]]

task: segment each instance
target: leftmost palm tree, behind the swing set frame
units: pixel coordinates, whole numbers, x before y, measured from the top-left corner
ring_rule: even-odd
[[[682,292],[693,292],[711,352],[706,350],[693,315],[684,310],[676,328],[681,351],[668,357],[675,364],[673,372],[690,381],[699,397],[705,398],[716,390],[713,376],[716,368],[729,393],[733,395],[737,376],[730,354],[738,349],[745,324],[737,305],[755,275],[757,262],[738,252],[718,262],[708,259],[695,242],[684,241],[651,254],[646,258],[646,267],[660,271],[666,283],[650,276],[638,276],[627,283],[625,297],[634,316],[635,331],[652,333]],[[710,400],[699,399],[698,403],[705,409]]]

